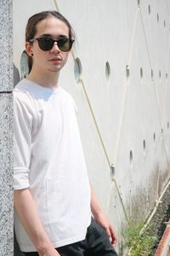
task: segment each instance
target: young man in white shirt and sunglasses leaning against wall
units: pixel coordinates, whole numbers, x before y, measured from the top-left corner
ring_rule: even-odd
[[[30,73],[14,88],[14,229],[30,256],[117,255],[88,181],[75,103],[58,84],[73,41],[58,12],[28,20]]]

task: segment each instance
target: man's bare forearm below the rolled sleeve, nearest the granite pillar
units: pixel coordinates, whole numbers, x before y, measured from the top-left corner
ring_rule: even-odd
[[[42,228],[35,203],[29,189],[14,190],[14,208],[39,256],[59,256]]]

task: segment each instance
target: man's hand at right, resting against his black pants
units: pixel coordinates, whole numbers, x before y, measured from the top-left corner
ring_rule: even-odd
[[[111,244],[115,246],[117,243],[116,232],[111,223],[109,222],[108,218],[105,216],[105,213],[100,212],[99,214],[96,214],[94,218],[96,222],[107,232]]]

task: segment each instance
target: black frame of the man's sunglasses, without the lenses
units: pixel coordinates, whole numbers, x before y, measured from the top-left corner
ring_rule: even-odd
[[[60,49],[61,51],[63,51],[63,52],[69,51],[69,50],[71,49],[71,47],[72,47],[72,44],[74,43],[74,39],[71,39],[71,38],[59,38],[59,39],[57,39],[57,40],[54,40],[53,38],[42,37],[42,38],[32,38],[32,39],[30,39],[30,40],[28,40],[28,41],[29,41],[30,43],[33,43],[34,41],[37,40],[38,46],[39,46],[40,49],[42,49],[43,51],[50,50],[50,49],[44,49],[44,48],[41,46],[41,39],[44,39],[44,38],[47,38],[47,39],[51,40],[51,42],[53,42],[53,44],[52,44],[52,46],[51,46],[50,49],[52,49],[52,48],[54,47],[54,43],[56,42],[57,45],[58,45],[58,47],[59,47],[59,49]],[[66,49],[66,50],[63,50],[62,47],[60,48],[60,46],[59,46],[59,41],[65,40],[65,39],[69,40],[70,48],[69,48],[69,49]]]

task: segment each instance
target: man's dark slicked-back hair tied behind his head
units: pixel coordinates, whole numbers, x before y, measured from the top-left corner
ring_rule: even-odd
[[[73,32],[73,29],[72,29],[69,21],[66,20],[63,15],[59,14],[59,12],[54,11],[54,10],[49,10],[49,11],[43,11],[36,15],[32,15],[30,17],[30,19],[28,20],[27,25],[26,25],[26,42],[28,42],[31,38],[34,38],[35,34],[37,33],[37,24],[40,21],[45,20],[49,17],[54,17],[56,19],[63,21],[69,29],[69,38],[75,38],[75,34]],[[32,67],[31,56],[28,56],[28,67],[29,67],[29,73],[30,73],[31,67]]]

